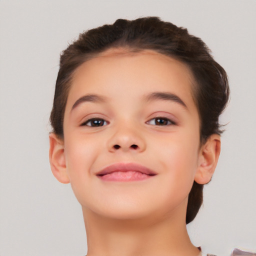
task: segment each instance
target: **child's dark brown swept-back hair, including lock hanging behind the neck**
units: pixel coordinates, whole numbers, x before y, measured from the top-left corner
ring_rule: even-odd
[[[222,132],[218,117],[229,97],[225,70],[200,38],[158,17],[117,19],[113,24],[87,30],[61,53],[50,114],[52,132],[63,138],[65,104],[75,69],[100,52],[117,47],[137,52],[150,49],[187,64],[196,81],[193,97],[200,117],[200,142]],[[203,185],[194,181],[188,196],[186,223],[194,219],[202,204],[202,189]]]

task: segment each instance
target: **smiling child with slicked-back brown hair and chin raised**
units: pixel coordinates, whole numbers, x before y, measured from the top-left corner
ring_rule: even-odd
[[[186,224],[220,152],[227,75],[157,17],[88,30],[60,57],[53,175],[81,204],[87,256],[197,256]]]

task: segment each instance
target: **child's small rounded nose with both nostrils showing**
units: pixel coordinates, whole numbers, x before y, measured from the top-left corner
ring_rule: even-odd
[[[116,130],[107,141],[108,150],[110,152],[144,151],[146,144],[142,136],[142,132],[135,127],[123,126],[116,128]]]

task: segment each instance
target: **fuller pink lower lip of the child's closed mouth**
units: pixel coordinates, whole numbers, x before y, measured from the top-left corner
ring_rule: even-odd
[[[98,175],[100,179],[108,181],[135,181],[144,180],[152,177],[153,175],[147,175],[139,171],[114,171],[103,176]]]

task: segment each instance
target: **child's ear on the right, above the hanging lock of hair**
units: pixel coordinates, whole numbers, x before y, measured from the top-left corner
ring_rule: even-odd
[[[206,184],[210,181],[218,162],[219,153],[220,136],[212,134],[200,148],[194,181],[198,184]]]

